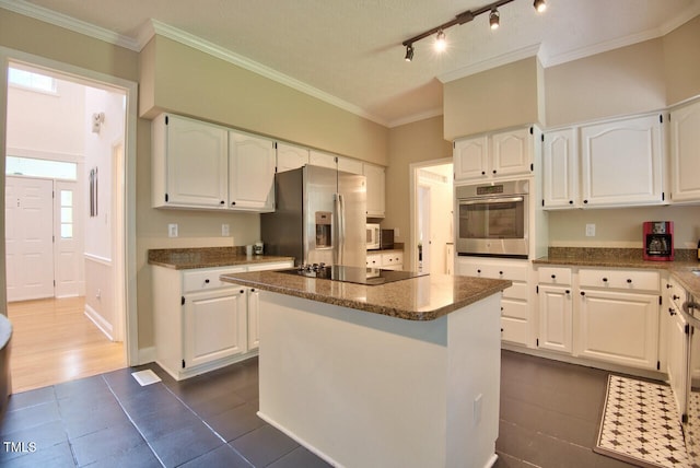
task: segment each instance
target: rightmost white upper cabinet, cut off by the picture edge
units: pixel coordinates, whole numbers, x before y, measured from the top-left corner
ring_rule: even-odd
[[[670,199],[700,201],[700,102],[670,113]]]

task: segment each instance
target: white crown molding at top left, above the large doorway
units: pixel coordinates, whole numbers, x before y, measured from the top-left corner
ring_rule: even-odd
[[[128,36],[117,34],[109,30],[105,30],[104,27],[95,26],[94,24],[77,20],[62,13],[57,13],[44,7],[28,3],[24,0],[0,0],[0,8],[137,52],[141,50],[139,43]]]

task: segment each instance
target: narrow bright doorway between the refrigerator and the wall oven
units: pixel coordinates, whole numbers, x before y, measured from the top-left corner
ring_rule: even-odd
[[[452,274],[454,268],[451,159],[411,164],[412,269]]]

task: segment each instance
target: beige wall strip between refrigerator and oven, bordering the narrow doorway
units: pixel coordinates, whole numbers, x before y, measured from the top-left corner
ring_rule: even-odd
[[[442,138],[443,119],[433,117],[395,127],[389,132],[389,161],[386,169],[386,218],[382,227],[399,230],[396,242],[405,243],[404,265],[411,265],[410,165],[452,157],[452,144]]]

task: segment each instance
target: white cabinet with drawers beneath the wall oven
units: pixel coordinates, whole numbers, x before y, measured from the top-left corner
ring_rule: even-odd
[[[532,344],[533,317],[527,260],[458,257],[456,272],[467,277],[511,280],[513,285],[503,291],[501,300],[501,339],[514,344]]]

